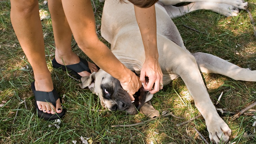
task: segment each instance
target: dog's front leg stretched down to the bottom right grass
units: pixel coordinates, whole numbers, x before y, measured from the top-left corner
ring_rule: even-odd
[[[177,74],[187,85],[197,109],[205,119],[211,141],[215,143],[228,142],[232,131],[218,115],[203,83],[196,60],[192,55],[188,54],[183,57],[177,67]]]

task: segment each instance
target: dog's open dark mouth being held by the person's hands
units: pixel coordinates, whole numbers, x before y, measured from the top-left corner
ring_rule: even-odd
[[[145,103],[146,95],[149,91],[145,90],[143,86],[133,95],[135,100],[133,102],[137,110]]]

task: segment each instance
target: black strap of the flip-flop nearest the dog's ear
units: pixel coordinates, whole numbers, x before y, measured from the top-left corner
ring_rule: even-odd
[[[88,71],[91,73],[91,70],[88,67],[88,62],[82,58],[80,58],[80,62],[77,64],[72,64],[72,65],[66,65],[67,68],[72,69],[76,73],[83,72],[83,71]]]

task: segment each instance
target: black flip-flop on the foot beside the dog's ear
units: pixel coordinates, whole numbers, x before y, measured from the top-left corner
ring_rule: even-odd
[[[64,71],[68,71],[70,73],[72,73],[73,75],[75,75],[78,79],[81,79],[82,76],[80,76],[78,73],[79,72],[83,72],[83,71],[88,71],[89,73],[92,73],[91,70],[89,69],[88,66],[88,62],[87,60],[84,60],[82,58],[80,58],[80,62],[77,64],[72,64],[72,65],[61,65],[59,63],[57,63],[56,59],[54,58],[52,60],[52,64],[54,68],[61,68]],[[97,66],[97,68],[99,69],[99,67]]]

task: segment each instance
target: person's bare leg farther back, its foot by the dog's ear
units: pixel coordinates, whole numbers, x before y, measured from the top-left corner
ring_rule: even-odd
[[[61,0],[49,0],[48,7],[52,17],[54,40],[56,44],[56,61],[62,65],[79,63],[79,57],[72,52],[71,49],[72,32],[67,22]],[[95,64],[88,62],[88,66],[91,72],[98,71]],[[78,74],[81,76],[90,75],[87,71]]]

